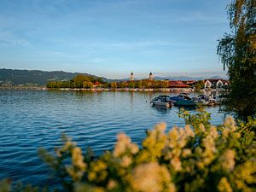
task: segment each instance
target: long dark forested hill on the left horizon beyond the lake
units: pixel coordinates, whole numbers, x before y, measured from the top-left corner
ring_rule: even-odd
[[[39,70],[18,70],[0,69],[0,84],[47,84],[48,81],[61,81],[73,79],[78,74],[96,77],[88,73],[67,73],[62,71],[39,71]],[[102,78],[104,81],[108,79]]]

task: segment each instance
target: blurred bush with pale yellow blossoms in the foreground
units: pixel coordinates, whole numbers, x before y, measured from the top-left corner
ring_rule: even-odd
[[[68,137],[55,154],[39,149],[39,155],[61,179],[61,191],[256,191],[256,121],[236,124],[228,117],[215,127],[204,111],[181,116],[189,125],[167,133],[166,124],[156,125],[141,148],[120,133],[113,151],[97,158]],[[0,186],[1,192],[43,191],[14,189],[7,180]]]

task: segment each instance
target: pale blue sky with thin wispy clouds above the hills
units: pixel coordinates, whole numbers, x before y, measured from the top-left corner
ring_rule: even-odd
[[[0,0],[0,68],[223,76],[230,0]]]

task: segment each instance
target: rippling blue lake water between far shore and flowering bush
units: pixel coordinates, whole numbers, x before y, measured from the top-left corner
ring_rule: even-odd
[[[56,186],[48,166],[38,158],[38,148],[54,151],[61,145],[62,132],[73,137],[81,148],[91,147],[95,154],[102,154],[113,148],[121,131],[140,143],[145,131],[157,123],[166,122],[168,129],[183,126],[178,108],[150,105],[159,94],[0,90],[0,179]],[[212,113],[213,125],[223,121],[224,114],[218,113],[218,107],[206,110]]]

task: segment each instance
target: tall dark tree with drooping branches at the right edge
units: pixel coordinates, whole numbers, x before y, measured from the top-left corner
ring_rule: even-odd
[[[230,34],[218,43],[217,53],[230,76],[227,111],[240,117],[256,110],[256,1],[232,0],[228,9]]]

